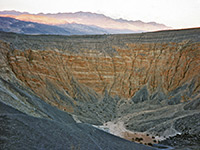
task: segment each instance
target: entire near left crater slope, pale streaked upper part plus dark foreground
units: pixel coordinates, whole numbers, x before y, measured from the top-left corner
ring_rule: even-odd
[[[68,113],[45,103],[13,74],[8,48],[1,43],[0,149],[155,149],[77,124]]]

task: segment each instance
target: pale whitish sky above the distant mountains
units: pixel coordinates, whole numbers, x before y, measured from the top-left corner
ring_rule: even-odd
[[[0,10],[30,13],[89,11],[112,18],[200,27],[200,0],[0,0]]]

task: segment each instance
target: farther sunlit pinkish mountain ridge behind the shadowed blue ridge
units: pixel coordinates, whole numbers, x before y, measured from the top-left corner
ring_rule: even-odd
[[[104,30],[106,30],[108,33],[111,34],[135,33],[135,32],[145,32],[145,31],[147,32],[147,31],[170,29],[170,27],[167,27],[164,24],[159,24],[156,22],[113,19],[103,14],[82,12],[82,11],[75,13],[46,13],[46,14],[45,13],[30,14],[30,13],[21,13],[15,11],[0,11],[0,14],[1,16],[5,16],[7,14],[8,16],[10,15],[10,17],[13,17],[15,19],[23,21],[34,21],[37,23],[41,23],[41,19],[37,18],[43,16],[49,18],[49,19],[43,18],[46,20],[46,22],[43,23],[46,24],[64,25],[68,23],[77,23],[87,26],[92,25],[103,28]],[[52,20],[52,22],[48,22],[48,20]]]

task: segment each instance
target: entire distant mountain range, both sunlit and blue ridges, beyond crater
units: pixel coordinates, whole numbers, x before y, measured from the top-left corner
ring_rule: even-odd
[[[30,14],[18,11],[0,11],[0,30],[25,34],[120,34],[166,30],[164,24],[112,19],[91,12]]]

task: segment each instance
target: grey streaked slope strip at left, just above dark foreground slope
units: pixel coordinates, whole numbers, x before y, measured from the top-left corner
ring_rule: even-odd
[[[0,101],[4,99],[6,99],[5,102],[10,106],[32,116],[49,118],[63,123],[75,122],[71,115],[45,103],[22,86],[9,83],[0,78]],[[8,111],[4,107],[5,106],[1,104],[0,112],[3,110]],[[13,111],[13,109],[11,110]]]

